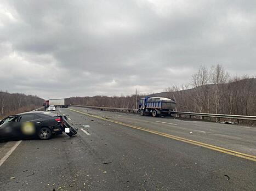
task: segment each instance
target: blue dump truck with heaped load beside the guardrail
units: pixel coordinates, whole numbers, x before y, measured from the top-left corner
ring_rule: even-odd
[[[171,115],[172,111],[176,111],[175,100],[161,97],[145,97],[140,99],[139,113],[140,115],[152,114]]]

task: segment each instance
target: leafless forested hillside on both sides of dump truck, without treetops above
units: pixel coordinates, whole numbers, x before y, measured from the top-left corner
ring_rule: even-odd
[[[137,102],[141,97],[137,96]],[[150,94],[153,97],[175,99],[178,111],[212,114],[256,115],[256,79],[235,80],[218,85],[207,84],[181,91]],[[72,97],[73,105],[136,108],[136,96]]]

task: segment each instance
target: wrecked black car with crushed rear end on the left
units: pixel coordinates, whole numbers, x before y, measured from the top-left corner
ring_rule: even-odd
[[[0,141],[26,138],[47,140],[61,132],[69,136],[77,134],[67,116],[51,112],[25,112],[5,117],[0,122]]]

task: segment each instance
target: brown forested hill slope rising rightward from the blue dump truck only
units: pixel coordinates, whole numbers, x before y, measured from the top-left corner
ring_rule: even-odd
[[[256,115],[255,78],[155,93],[150,96],[175,99],[179,111]]]

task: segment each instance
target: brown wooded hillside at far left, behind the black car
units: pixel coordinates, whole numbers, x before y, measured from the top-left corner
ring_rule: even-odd
[[[44,100],[37,96],[0,91],[0,119],[7,115],[37,109],[43,105],[43,102]]]

